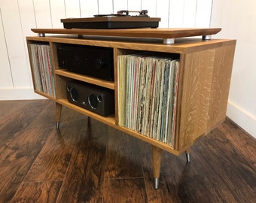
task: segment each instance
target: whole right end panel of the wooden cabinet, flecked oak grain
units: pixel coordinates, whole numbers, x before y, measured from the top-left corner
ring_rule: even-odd
[[[184,150],[226,117],[235,45],[187,53],[178,107],[178,147]]]

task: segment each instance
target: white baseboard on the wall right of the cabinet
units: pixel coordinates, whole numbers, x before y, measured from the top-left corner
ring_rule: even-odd
[[[249,114],[229,101],[227,104],[227,117],[230,117],[233,122],[256,138],[256,116]]]

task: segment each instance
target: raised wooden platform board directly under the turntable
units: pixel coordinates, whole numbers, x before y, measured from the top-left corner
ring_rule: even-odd
[[[32,29],[38,34],[98,35],[136,38],[185,38],[215,35],[221,28],[211,29]]]

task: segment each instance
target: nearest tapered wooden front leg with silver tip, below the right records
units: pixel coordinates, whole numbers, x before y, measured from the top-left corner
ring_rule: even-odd
[[[158,189],[162,150],[152,145],[152,157],[153,157],[153,170],[154,170],[154,189]]]

